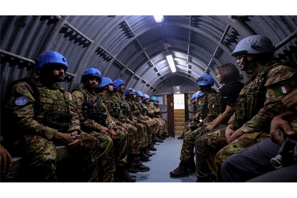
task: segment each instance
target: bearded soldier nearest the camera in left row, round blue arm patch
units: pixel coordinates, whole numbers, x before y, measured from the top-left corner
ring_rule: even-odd
[[[26,181],[57,181],[57,145],[65,145],[69,153],[82,157],[83,181],[99,181],[98,170],[102,167],[99,140],[80,130],[71,94],[57,84],[64,80],[68,69],[66,58],[58,52],[43,52],[35,59],[34,69],[39,78],[12,83],[5,105],[12,113],[13,131],[18,132],[7,135],[13,142],[17,141],[13,145],[22,152],[24,165],[28,166]],[[112,149],[110,143],[102,151]]]

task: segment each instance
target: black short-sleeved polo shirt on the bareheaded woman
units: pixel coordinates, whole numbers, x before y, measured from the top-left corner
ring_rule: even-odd
[[[221,89],[221,113],[223,114],[231,103],[235,103],[244,83],[239,81],[225,84]]]

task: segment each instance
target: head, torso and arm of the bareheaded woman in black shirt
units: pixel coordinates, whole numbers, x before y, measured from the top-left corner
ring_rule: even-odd
[[[227,63],[216,68],[217,80],[225,85],[221,89],[221,113],[211,123],[204,124],[206,128],[204,132],[208,132],[216,128],[219,124],[225,124],[234,113],[234,107],[231,103],[235,103],[244,83],[238,81],[239,71],[235,65]]]

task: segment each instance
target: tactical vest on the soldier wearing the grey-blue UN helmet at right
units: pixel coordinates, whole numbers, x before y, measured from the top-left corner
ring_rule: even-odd
[[[239,128],[254,117],[260,109],[264,107],[266,100],[267,88],[264,86],[268,71],[274,66],[281,63],[271,64],[263,68],[263,70],[255,77],[251,78],[244,85],[239,93],[236,103],[232,103],[235,111],[234,127]],[[256,80],[255,83],[253,83]]]

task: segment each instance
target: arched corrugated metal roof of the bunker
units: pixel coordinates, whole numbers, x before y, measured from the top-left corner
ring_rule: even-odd
[[[193,83],[215,68],[236,64],[230,54],[244,37],[261,34],[274,45],[296,32],[296,16],[0,16],[1,99],[8,83],[34,76],[32,62],[12,58],[3,50],[33,60],[45,50],[58,51],[69,64],[67,91],[79,86],[80,76],[95,67],[126,87],[152,95],[171,79]],[[275,56],[297,62],[295,36]],[[164,47],[170,45],[170,47]],[[171,54],[173,73],[166,61]],[[241,81],[245,81],[244,74]],[[215,87],[221,85],[215,83]]]

